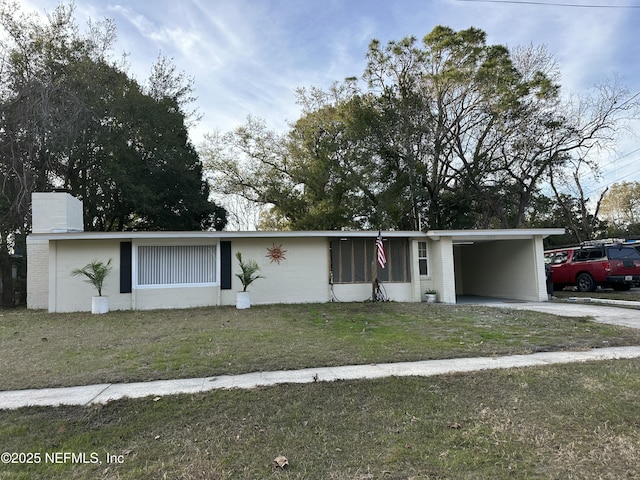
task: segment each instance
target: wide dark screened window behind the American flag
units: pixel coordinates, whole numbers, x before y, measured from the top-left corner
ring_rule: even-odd
[[[384,239],[387,266],[378,267],[381,282],[410,282],[409,242],[406,238]],[[331,273],[334,283],[368,283],[372,280],[375,238],[331,240]]]

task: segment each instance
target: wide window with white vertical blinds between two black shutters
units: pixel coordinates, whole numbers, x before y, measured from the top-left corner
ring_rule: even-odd
[[[212,284],[216,281],[215,245],[138,247],[138,285]]]

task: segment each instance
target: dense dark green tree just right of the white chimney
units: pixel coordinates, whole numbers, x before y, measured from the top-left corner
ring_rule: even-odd
[[[104,73],[98,111],[109,116],[96,118],[78,142],[68,177],[70,189],[85,200],[90,228],[221,229],[225,212],[208,200],[177,101],[152,98],[117,70],[105,67]]]

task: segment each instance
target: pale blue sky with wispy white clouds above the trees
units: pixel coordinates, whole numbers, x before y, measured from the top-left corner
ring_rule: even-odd
[[[21,3],[24,11],[44,13],[58,2]],[[638,8],[615,8],[624,6]],[[76,0],[76,17],[81,26],[89,17],[115,21],[116,52],[129,55],[138,80],[160,53],[194,78],[204,115],[192,131],[196,143],[248,115],[284,130],[299,117],[296,88],[359,76],[373,38],[422,38],[440,24],[480,28],[492,44],[546,45],[566,93],[614,74],[640,92],[640,0]],[[587,191],[640,181],[640,122],[635,131],[638,137],[625,134],[617,151],[602,154],[605,175],[585,179]]]

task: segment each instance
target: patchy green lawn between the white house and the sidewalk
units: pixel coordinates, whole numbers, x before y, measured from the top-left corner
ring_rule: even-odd
[[[640,345],[640,331],[478,306],[0,311],[0,389]]]

